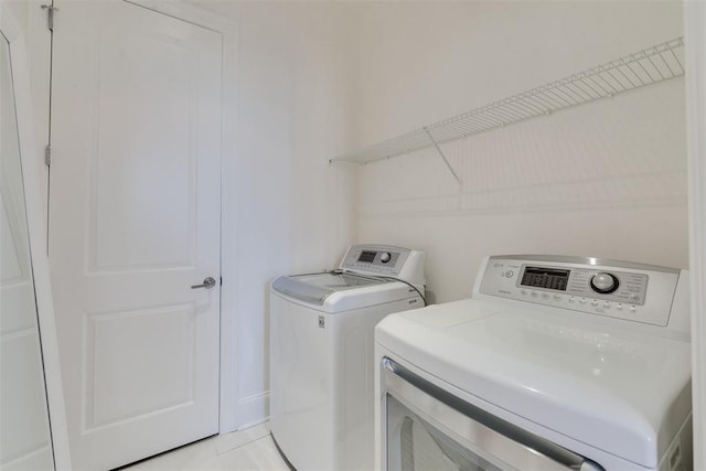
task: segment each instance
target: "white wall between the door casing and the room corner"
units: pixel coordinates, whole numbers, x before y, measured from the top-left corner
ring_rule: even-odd
[[[333,268],[355,236],[354,173],[328,159],[350,128],[346,7],[210,2],[238,24],[235,288],[239,428],[267,417],[268,283]],[[233,271],[231,267],[229,271]],[[225,267],[224,267],[225,270]],[[226,336],[228,333],[226,333]]]

